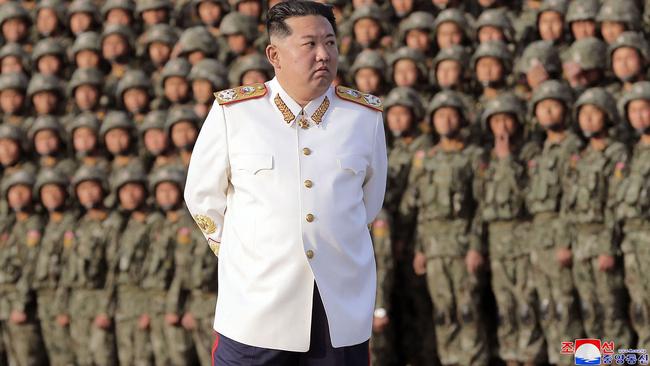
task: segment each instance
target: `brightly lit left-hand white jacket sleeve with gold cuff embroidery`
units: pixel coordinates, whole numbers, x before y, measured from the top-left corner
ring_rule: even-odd
[[[194,146],[184,192],[190,214],[211,244],[221,243],[229,178],[225,111],[215,101]]]

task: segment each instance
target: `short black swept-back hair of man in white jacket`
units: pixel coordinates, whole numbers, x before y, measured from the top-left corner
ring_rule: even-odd
[[[271,36],[284,38],[291,35],[291,28],[285,22],[289,18],[318,15],[327,19],[336,34],[336,20],[329,5],[309,0],[286,0],[274,5],[266,19],[266,31]]]

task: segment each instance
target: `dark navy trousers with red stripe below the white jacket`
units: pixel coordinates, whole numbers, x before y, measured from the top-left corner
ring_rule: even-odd
[[[212,348],[212,366],[367,366],[368,341],[334,348],[320,293],[314,284],[309,351],[290,352],[239,343],[217,333]]]

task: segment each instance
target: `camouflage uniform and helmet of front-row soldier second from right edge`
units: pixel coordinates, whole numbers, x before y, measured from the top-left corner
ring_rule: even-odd
[[[575,120],[584,105],[597,106],[611,124],[618,120],[616,103],[603,88],[587,89],[574,104]],[[606,127],[605,127],[606,128]],[[618,257],[614,212],[608,197],[616,192],[622,174],[617,167],[628,160],[625,145],[608,139],[604,150],[591,144],[571,156],[569,181],[562,194],[562,215],[569,226],[574,253],[573,277],[580,296],[582,321],[589,338],[614,341],[617,347],[631,346],[627,321],[623,268],[598,268],[598,256]]]

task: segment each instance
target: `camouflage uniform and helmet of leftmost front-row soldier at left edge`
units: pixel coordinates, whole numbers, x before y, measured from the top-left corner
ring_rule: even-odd
[[[2,196],[16,185],[33,187],[34,178],[17,171],[2,182]],[[36,270],[43,219],[31,211],[3,217],[0,234],[0,337],[10,365],[45,365],[43,340],[36,313],[32,282]],[[27,318],[16,324],[9,319],[18,311]]]

